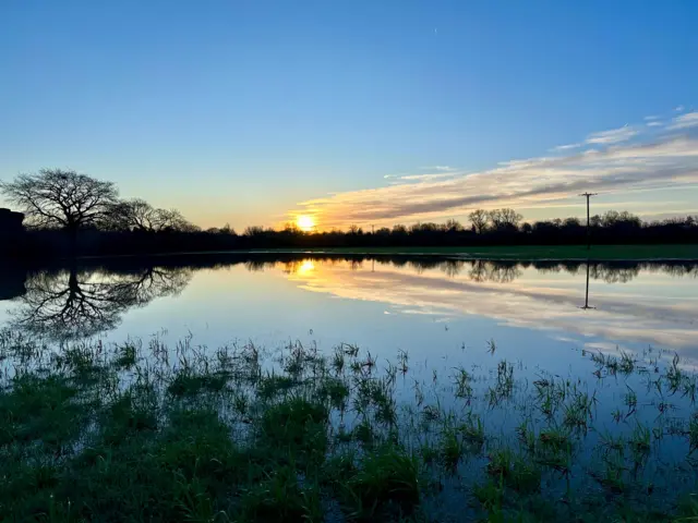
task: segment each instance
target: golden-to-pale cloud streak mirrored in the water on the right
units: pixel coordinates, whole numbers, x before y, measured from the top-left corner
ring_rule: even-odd
[[[586,299],[586,266],[580,264],[534,268],[482,260],[431,266],[364,262],[358,267],[344,260],[314,260],[313,267],[312,271],[287,268],[288,277],[311,292],[385,303],[392,313],[450,319],[484,316],[557,337],[562,331],[580,346],[602,339],[698,356],[694,324],[698,300],[682,292],[686,282],[677,279],[696,277],[697,269],[689,265],[592,265],[589,305],[595,308],[587,311],[580,308]],[[630,281],[635,283],[622,284]]]

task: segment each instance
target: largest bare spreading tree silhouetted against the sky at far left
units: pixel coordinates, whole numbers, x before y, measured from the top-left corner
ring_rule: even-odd
[[[1,183],[0,192],[20,207],[27,223],[75,233],[97,224],[117,202],[113,183],[61,169],[41,169]]]

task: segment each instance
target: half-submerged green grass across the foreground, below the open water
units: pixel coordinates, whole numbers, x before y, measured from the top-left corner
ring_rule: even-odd
[[[582,354],[589,385],[518,378],[494,342],[490,370],[442,376],[352,345],[0,349],[3,521],[698,518],[696,376],[652,353]],[[604,387],[623,430],[600,428]]]

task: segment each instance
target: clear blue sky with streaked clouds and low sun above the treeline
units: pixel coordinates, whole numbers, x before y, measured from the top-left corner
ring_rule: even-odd
[[[698,2],[0,2],[0,180],[202,227],[698,209]]]

